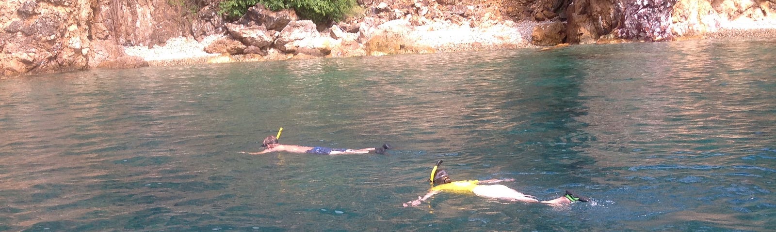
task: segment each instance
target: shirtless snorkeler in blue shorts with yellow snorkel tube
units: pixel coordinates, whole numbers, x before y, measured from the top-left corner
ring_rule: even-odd
[[[346,149],[346,148],[326,148],[326,147],[306,147],[300,145],[282,145],[278,142],[275,136],[269,135],[264,139],[265,149],[261,152],[240,152],[243,154],[262,155],[269,152],[293,152],[293,153],[308,153],[316,155],[348,155],[348,154],[367,154],[369,152],[375,152],[377,154],[384,154],[386,150],[390,149],[390,145],[383,144],[378,148],[361,148],[361,149]]]

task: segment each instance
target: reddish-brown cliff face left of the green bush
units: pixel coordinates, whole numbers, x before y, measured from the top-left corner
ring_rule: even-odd
[[[208,3],[203,0],[200,2]],[[178,36],[223,32],[208,5],[167,0],[6,0],[0,2],[2,75],[100,67],[126,54],[122,46],[165,43]],[[173,1],[175,2],[175,1]],[[192,14],[189,9],[199,9]],[[123,60],[132,60],[121,58]],[[118,67],[118,62],[110,67]],[[126,67],[138,64],[126,63]],[[142,63],[140,63],[142,65]],[[104,67],[104,66],[103,66]]]

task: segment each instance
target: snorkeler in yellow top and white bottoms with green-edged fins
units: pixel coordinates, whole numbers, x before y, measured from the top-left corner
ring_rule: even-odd
[[[566,190],[566,195],[558,197],[553,200],[540,201],[536,200],[535,196],[525,195],[517,190],[510,189],[503,185],[480,185],[482,183],[500,183],[502,181],[513,181],[514,179],[487,179],[487,180],[461,180],[452,181],[445,170],[437,170],[438,166],[442,164],[442,160],[438,161],[431,170],[432,186],[425,196],[418,196],[417,200],[411,200],[404,203],[404,206],[418,206],[422,201],[427,200],[429,197],[441,193],[443,191],[449,191],[453,193],[468,193],[472,192],[476,196],[482,196],[487,199],[519,201],[524,203],[546,203],[552,206],[560,206],[563,204],[569,204],[577,201],[587,202],[590,201],[587,197],[577,195],[570,190]]]

